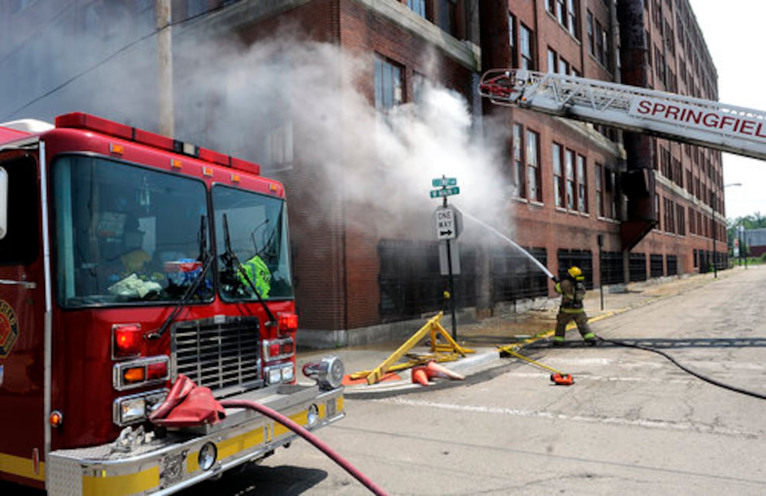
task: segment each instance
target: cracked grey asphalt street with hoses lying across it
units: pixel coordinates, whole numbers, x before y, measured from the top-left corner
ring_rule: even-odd
[[[766,269],[698,282],[594,321],[594,330],[766,396]],[[390,494],[766,494],[762,399],[656,353],[584,347],[576,331],[568,338],[565,348],[542,339],[524,352],[572,374],[572,386],[498,359],[444,387],[349,395],[346,418],[318,436]],[[368,494],[303,440],[192,491]]]

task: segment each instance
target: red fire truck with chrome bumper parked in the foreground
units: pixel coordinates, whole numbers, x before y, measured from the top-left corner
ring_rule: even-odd
[[[83,113],[0,124],[0,480],[169,494],[296,437],[235,408],[155,426],[180,376],[342,418],[336,357],[296,382],[297,325],[285,191],[258,165]]]

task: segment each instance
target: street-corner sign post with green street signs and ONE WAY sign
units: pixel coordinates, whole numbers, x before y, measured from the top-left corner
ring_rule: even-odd
[[[439,248],[439,266],[442,275],[449,276],[447,293],[450,299],[450,312],[452,313],[452,338],[457,340],[457,318],[455,317],[455,295],[454,295],[454,276],[460,274],[460,254],[457,253],[457,237],[460,236],[460,230],[463,224],[463,215],[460,210],[447,205],[447,197],[453,194],[460,194],[460,188],[457,187],[457,178],[447,178],[442,176],[431,180],[431,186],[440,188],[430,191],[430,197],[443,198],[441,207],[437,207],[435,212],[436,236],[446,246],[446,250]],[[455,243],[453,246],[453,242]],[[454,253],[453,253],[454,251]],[[446,260],[442,259],[442,253],[446,255]],[[455,259],[453,263],[453,258]]]

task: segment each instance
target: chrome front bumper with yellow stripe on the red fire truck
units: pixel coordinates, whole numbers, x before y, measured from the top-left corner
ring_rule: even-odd
[[[227,400],[250,400],[268,406],[309,430],[345,416],[343,388],[322,391],[317,386],[267,387]],[[309,410],[319,413],[309,425]],[[167,436],[115,452],[113,445],[50,452],[45,464],[48,494],[172,494],[229,468],[262,458],[298,435],[254,410],[229,408],[226,418],[212,426],[168,429]],[[218,457],[204,470],[202,446],[213,443]]]

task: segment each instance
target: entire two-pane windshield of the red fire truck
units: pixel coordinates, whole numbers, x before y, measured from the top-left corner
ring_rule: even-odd
[[[210,250],[204,181],[83,155],[57,158],[52,178],[56,286],[64,307],[211,301],[213,270],[198,275],[215,251],[224,300],[257,299],[245,275],[262,299],[293,297],[280,198],[213,186],[217,250]],[[241,269],[221,262],[224,214]]]

